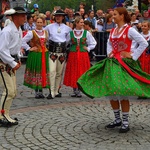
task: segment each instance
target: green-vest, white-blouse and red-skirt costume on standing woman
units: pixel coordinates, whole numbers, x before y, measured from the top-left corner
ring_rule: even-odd
[[[80,91],[77,89],[77,80],[90,68],[88,51],[95,48],[96,41],[90,32],[83,29],[74,29],[71,31],[70,38],[72,46],[67,59],[64,85],[70,86],[74,89],[75,97],[80,96]],[[88,46],[88,51],[83,48],[84,46]]]

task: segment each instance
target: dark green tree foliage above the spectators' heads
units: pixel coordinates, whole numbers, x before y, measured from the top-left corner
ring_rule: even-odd
[[[39,5],[40,12],[45,12],[47,10],[52,11],[54,6],[61,6],[62,9],[69,7],[77,11],[80,2],[86,3],[86,11],[91,9],[92,5],[95,10],[102,9],[106,11],[108,8],[112,8],[115,5],[116,0],[32,0],[29,8],[32,9],[33,4],[36,3]]]

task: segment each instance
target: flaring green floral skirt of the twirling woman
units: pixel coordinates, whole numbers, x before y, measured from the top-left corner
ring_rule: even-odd
[[[150,80],[138,61],[124,58],[123,61],[136,74]],[[115,58],[105,58],[96,63],[77,81],[79,89],[91,98],[104,96],[150,97],[150,84],[132,77]]]

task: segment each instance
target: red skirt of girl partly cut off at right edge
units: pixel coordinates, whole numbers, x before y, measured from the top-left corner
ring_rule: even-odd
[[[146,50],[139,58],[141,68],[144,72],[150,74],[150,54],[146,53]]]

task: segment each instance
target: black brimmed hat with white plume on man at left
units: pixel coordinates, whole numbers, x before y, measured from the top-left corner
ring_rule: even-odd
[[[13,9],[6,10],[5,15],[14,15],[14,14],[27,14],[23,7],[14,7]]]

